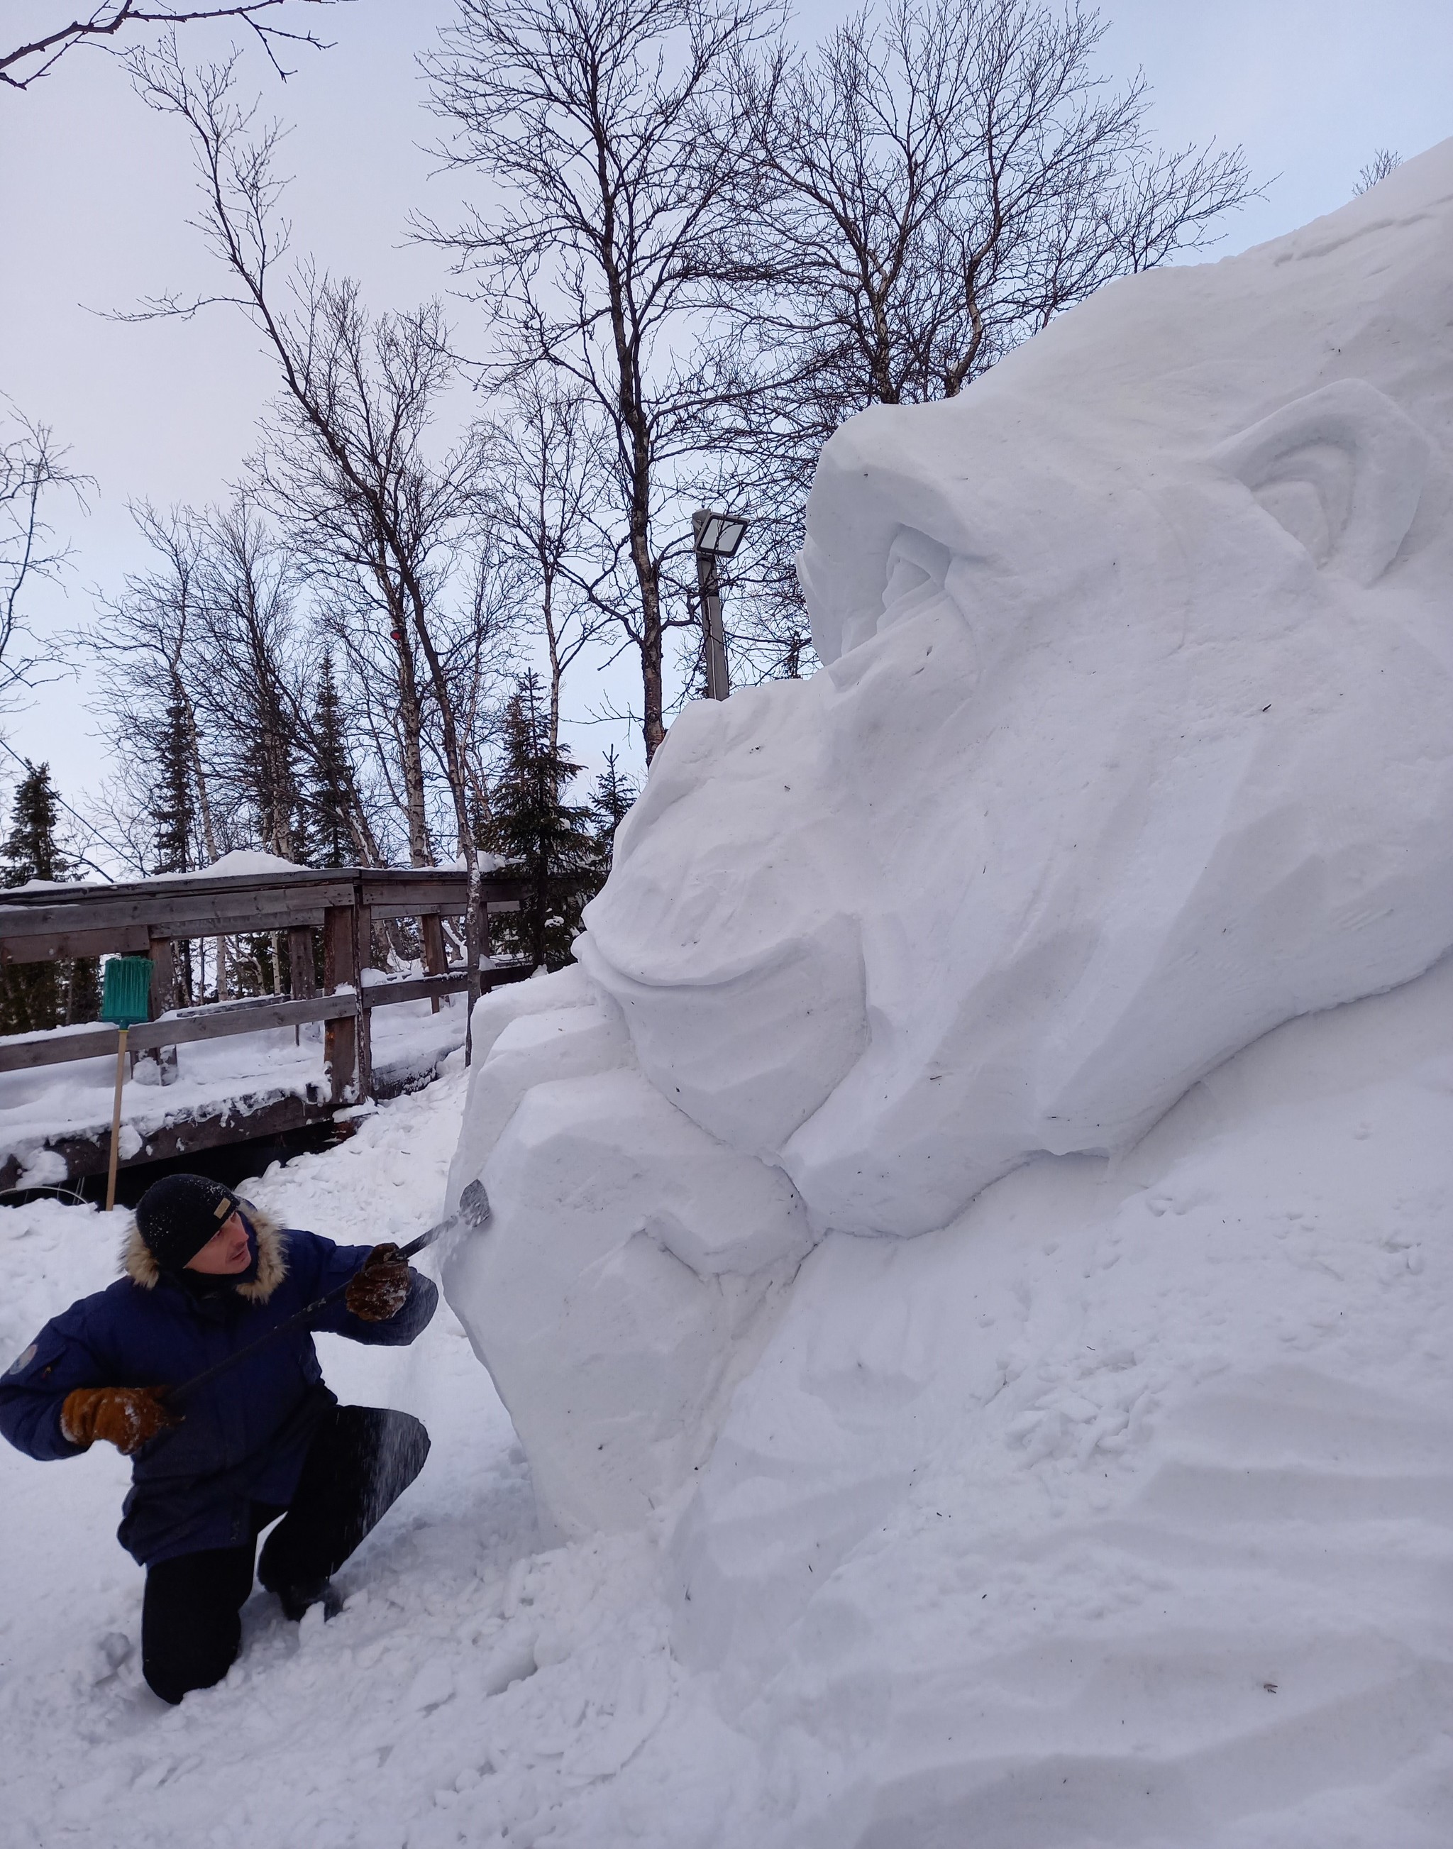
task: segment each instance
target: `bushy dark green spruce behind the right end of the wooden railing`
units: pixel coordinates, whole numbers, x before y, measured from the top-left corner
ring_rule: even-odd
[[[505,754],[484,845],[505,862],[499,871],[507,878],[525,882],[518,915],[505,913],[495,936],[501,949],[529,956],[536,969],[569,961],[580,908],[597,884],[592,875],[599,843],[590,810],[564,799],[579,769],[564,743],[551,745],[540,684],[527,673],[505,714]]]

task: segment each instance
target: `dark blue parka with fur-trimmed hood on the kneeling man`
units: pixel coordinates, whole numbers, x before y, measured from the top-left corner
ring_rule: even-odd
[[[244,1218],[257,1244],[255,1276],[205,1296],[166,1276],[133,1230],[122,1278],[52,1316],[0,1378],[9,1442],[43,1461],[79,1457],[83,1448],[61,1433],[61,1405],[76,1387],[176,1387],[346,1283],[372,1250],[279,1228],[255,1207]],[[292,1501],[309,1440],[338,1403],[324,1385],[312,1331],[401,1346],[436,1302],[434,1285],[410,1272],[409,1300],[386,1322],[364,1322],[340,1300],[189,1394],[185,1422],[131,1459],[120,1544],[142,1566],[244,1544],[250,1503]]]

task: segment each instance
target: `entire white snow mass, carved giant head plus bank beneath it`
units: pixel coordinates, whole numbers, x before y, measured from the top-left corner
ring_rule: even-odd
[[[856,418],[479,1006],[446,1289],[784,1843],[1442,1840],[1451,325],[1453,142]]]

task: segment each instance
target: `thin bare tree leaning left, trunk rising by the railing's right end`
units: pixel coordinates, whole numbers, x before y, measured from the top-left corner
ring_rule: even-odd
[[[281,392],[259,460],[263,492],[318,571],[368,584],[379,619],[390,625],[409,697],[420,693],[409,680],[414,649],[421,656],[470,878],[473,1008],[482,939],[479,849],[466,741],[449,701],[442,599],[479,520],[484,438],[468,435],[438,462],[427,455],[433,416],[455,372],[438,305],[370,316],[357,285],[311,264],[294,266],[279,283],[287,251],[287,224],[277,213],[283,181],[274,166],[279,128],[259,128],[255,109],[235,100],[235,59],[192,72],[170,41],[155,55],[133,55],[131,68],[142,98],[179,116],[192,137],[198,227],[231,288],[207,300],[238,307],[277,366]],[[192,314],[201,305],[159,298],[142,314]],[[418,743],[421,725],[407,730]],[[421,773],[407,765],[410,804],[416,782],[421,797]],[[427,830],[410,810],[410,858],[420,863],[427,856]]]

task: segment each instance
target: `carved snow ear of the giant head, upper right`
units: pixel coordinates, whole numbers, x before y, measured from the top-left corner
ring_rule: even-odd
[[[1215,460],[1318,566],[1372,584],[1407,538],[1429,457],[1427,436],[1375,385],[1338,379],[1233,436]]]

